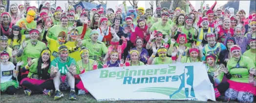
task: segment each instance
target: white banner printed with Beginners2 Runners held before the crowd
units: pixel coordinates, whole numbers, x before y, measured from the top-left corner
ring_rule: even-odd
[[[202,62],[105,68],[80,77],[97,101],[215,101],[213,85]]]

